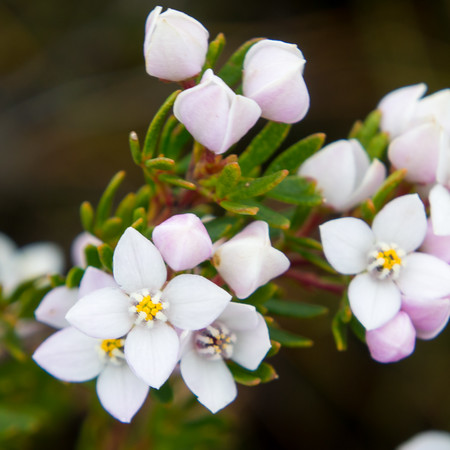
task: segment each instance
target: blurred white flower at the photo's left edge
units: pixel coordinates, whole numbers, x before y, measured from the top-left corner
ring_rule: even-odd
[[[62,250],[51,242],[36,242],[22,248],[0,233],[0,284],[11,292],[20,283],[43,275],[61,273]]]

